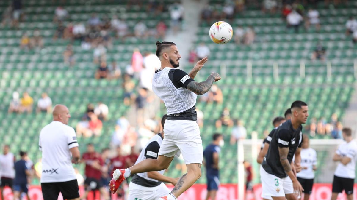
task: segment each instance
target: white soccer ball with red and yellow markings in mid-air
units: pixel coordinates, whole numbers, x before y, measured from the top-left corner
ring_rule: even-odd
[[[210,38],[214,43],[225,44],[232,39],[232,26],[224,21],[217,21],[210,28]]]

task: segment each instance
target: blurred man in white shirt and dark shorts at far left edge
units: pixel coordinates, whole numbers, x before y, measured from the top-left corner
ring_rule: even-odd
[[[14,163],[15,156],[10,152],[9,145],[4,145],[4,152],[0,155],[1,199],[4,199],[2,192],[5,186],[8,186],[10,189],[12,189],[12,182],[15,178]]]

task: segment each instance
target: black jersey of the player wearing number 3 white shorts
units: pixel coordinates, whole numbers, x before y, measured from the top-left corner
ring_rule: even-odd
[[[279,178],[287,177],[287,174],[280,163],[278,147],[289,148],[287,159],[289,160],[289,163],[291,163],[296,149],[301,147],[301,130],[301,125],[294,130],[290,120],[282,123],[282,125],[276,129],[275,133],[273,133],[272,140],[270,141],[268,153],[262,162],[262,167],[267,173],[273,174]]]

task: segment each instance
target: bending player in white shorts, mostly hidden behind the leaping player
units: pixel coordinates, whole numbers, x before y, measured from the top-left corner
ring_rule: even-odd
[[[161,119],[161,125],[164,127],[167,114]],[[164,139],[164,132],[152,137],[146,146],[141,150],[136,163],[141,162],[146,158],[156,159],[159,154],[160,145]],[[129,199],[128,200],[156,200],[161,196],[170,193],[169,188],[164,184],[171,183],[176,185],[178,179],[164,176],[165,170],[160,172],[145,172],[133,175],[129,184]]]

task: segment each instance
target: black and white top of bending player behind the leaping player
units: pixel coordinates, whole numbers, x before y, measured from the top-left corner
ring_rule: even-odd
[[[159,149],[162,143],[161,134],[157,134],[152,137],[146,146],[141,150],[139,157],[137,158],[135,164],[140,163],[142,160],[146,158],[157,158],[157,154],[159,153]],[[165,170],[159,171],[160,174],[164,174]],[[144,187],[155,187],[160,185],[162,182],[151,179],[147,177],[147,173],[139,173],[135,174],[131,180],[133,183],[144,186]]]

